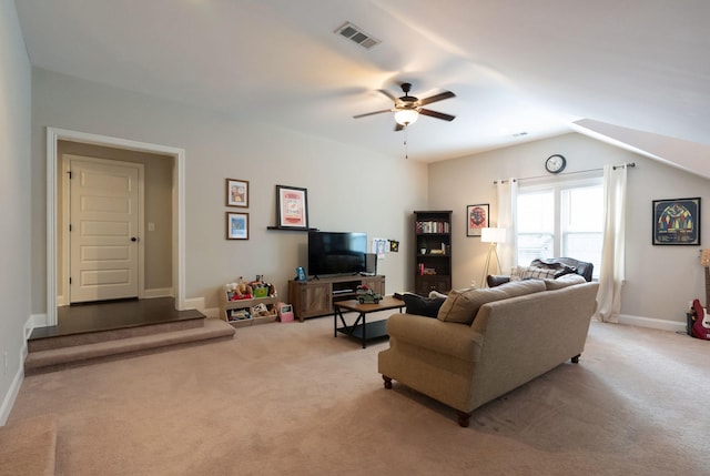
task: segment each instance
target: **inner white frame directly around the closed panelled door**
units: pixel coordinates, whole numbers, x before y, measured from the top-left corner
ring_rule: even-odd
[[[71,156],[71,158],[70,158]],[[145,178],[145,168],[142,163],[139,162],[124,162],[120,160],[113,159],[99,159],[85,155],[77,155],[77,154],[64,154],[61,158],[61,173],[62,173],[62,223],[60,226],[61,235],[62,235],[62,250],[61,250],[61,261],[62,261],[62,300],[60,302],[58,296],[57,305],[70,305],[71,304],[71,285],[69,284],[69,277],[71,276],[71,259],[70,252],[71,249],[71,233],[69,233],[70,225],[70,188],[71,184],[69,182],[69,162],[73,160],[72,158],[77,158],[84,162],[91,162],[95,164],[109,164],[109,165],[118,165],[118,166],[126,166],[138,170],[138,254],[135,259],[138,261],[138,298],[141,300],[144,297],[145,293],[145,240],[144,240],[144,230],[143,230],[143,221],[145,216],[145,189],[144,189],[144,178]]]

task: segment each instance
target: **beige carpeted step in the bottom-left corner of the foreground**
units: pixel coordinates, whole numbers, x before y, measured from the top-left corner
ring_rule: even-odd
[[[58,418],[42,415],[0,427],[0,474],[54,476]]]

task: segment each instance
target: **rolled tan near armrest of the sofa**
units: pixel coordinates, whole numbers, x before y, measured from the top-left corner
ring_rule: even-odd
[[[387,320],[389,345],[406,342],[413,346],[475,362],[480,355],[484,336],[467,324],[445,323],[415,314],[393,314]]]

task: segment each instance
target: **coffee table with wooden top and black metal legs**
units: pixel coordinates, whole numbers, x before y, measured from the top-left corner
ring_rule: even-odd
[[[387,335],[387,320],[367,322],[367,314],[396,308],[402,312],[404,306],[404,301],[392,296],[383,297],[377,304],[361,304],[357,300],[336,301],[333,303],[333,307],[335,308],[333,313],[333,336],[337,337],[337,333],[341,332],[351,337],[359,338],[363,343],[363,348],[365,348],[367,341]],[[357,313],[357,320],[353,325],[347,325],[343,316],[343,311],[354,311]],[[343,324],[342,327],[337,326],[338,318]]]

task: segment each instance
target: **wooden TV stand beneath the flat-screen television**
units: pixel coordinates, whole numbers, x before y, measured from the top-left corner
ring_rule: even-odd
[[[375,293],[385,295],[385,276],[312,277],[308,281],[288,281],[288,300],[294,316],[303,322],[306,317],[332,315],[334,301],[355,298],[357,286],[366,284]]]

